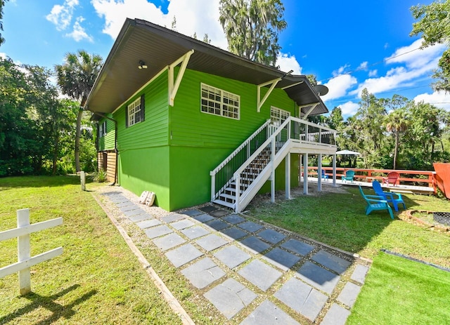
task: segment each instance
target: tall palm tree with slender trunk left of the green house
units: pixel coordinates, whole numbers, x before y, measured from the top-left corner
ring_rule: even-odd
[[[84,50],[79,50],[77,53],[67,53],[64,64],[55,65],[58,86],[60,86],[61,91],[70,98],[80,101],[77,115],[77,133],[75,135],[75,168],[77,172],[80,170],[79,138],[81,136],[83,107],[102,65],[103,58],[100,55],[90,55]]]

